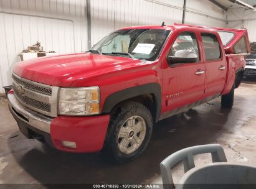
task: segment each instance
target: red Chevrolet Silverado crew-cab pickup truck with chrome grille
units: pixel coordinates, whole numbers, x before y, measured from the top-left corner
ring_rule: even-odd
[[[145,150],[159,120],[218,96],[231,108],[249,52],[247,30],[125,27],[88,52],[17,63],[9,109],[29,139],[123,163]]]

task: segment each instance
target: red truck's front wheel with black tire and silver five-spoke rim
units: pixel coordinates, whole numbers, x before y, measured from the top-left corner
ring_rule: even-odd
[[[121,104],[111,114],[105,150],[115,162],[122,164],[136,159],[149,143],[153,129],[150,111],[143,104]]]

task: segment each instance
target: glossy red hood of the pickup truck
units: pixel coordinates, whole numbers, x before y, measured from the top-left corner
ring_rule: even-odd
[[[140,62],[141,60],[126,57],[73,53],[19,62],[14,66],[13,71],[27,80],[69,87],[80,78],[133,67]]]

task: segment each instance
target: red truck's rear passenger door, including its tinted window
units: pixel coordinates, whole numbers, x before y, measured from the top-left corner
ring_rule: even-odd
[[[202,32],[204,62],[206,63],[205,95],[220,94],[225,85],[227,65],[225,53],[216,32]]]

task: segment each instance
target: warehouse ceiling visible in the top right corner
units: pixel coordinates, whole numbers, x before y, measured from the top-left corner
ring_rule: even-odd
[[[222,9],[234,9],[244,7],[245,9],[254,9],[256,0],[209,0]],[[255,10],[254,10],[255,11]]]

